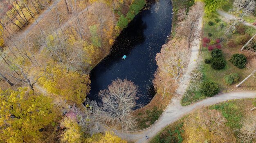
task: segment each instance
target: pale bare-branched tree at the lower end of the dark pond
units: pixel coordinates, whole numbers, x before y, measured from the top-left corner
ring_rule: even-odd
[[[137,106],[138,87],[133,82],[125,79],[112,81],[108,89],[101,90],[103,119],[116,128],[122,130],[134,130],[135,117],[131,115],[132,108]]]

